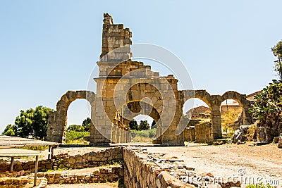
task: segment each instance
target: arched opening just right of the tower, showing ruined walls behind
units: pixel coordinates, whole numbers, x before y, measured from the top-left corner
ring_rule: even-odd
[[[184,142],[204,142],[212,139],[212,120],[209,105],[202,99],[191,98],[183,105]]]

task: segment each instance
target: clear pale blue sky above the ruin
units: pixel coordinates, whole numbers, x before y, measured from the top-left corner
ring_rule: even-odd
[[[282,39],[281,7],[280,0],[0,0],[0,131],[22,109],[55,109],[68,90],[87,89],[106,12],[130,28],[133,43],[176,54],[195,89],[256,92],[276,78],[271,47]],[[71,104],[69,124],[88,116],[85,104]]]

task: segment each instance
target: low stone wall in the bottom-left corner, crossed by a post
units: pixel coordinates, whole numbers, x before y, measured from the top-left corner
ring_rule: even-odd
[[[0,187],[3,188],[28,188],[33,187],[33,177],[1,177]],[[35,188],[46,188],[47,180],[45,178],[37,179],[37,186]]]

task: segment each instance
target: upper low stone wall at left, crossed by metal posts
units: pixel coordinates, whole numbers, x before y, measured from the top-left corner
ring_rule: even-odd
[[[83,155],[68,156],[68,154],[62,154],[54,156],[51,160],[41,160],[38,162],[38,171],[45,172],[47,170],[57,170],[59,168],[66,169],[81,169],[92,168],[100,165],[107,165],[111,161],[122,161],[123,152],[121,148],[109,148],[102,151],[92,151]],[[4,173],[10,169],[10,162],[0,163],[0,173]],[[15,172],[24,170],[26,173],[33,172],[35,170],[35,161],[28,161],[18,163],[15,161],[13,166]]]

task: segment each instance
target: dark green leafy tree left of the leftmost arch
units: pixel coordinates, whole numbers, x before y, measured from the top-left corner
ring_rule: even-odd
[[[35,109],[30,108],[27,111],[20,111],[20,115],[16,117],[14,127],[7,125],[3,134],[23,138],[32,136],[36,139],[43,139],[47,137],[49,111],[53,110],[43,106],[37,106]]]

